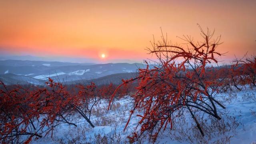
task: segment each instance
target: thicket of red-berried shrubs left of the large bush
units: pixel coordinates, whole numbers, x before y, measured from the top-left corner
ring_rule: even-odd
[[[76,126],[70,121],[76,114],[94,127],[90,121],[93,106],[101,99],[109,99],[116,89],[113,84],[97,87],[92,82],[68,90],[51,78],[44,88],[6,86],[2,82],[0,85],[0,140],[7,143],[30,143],[33,137],[52,135],[54,128],[62,123]],[[126,92],[123,90],[120,97]]]

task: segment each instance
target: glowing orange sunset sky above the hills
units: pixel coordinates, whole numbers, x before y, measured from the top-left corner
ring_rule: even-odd
[[[256,0],[0,0],[0,53],[142,61],[160,27],[180,43],[202,40],[196,24],[222,36],[221,60],[256,54]]]

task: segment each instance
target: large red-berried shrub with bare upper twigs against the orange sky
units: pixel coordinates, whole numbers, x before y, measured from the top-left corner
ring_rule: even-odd
[[[184,47],[168,43],[164,36],[162,41],[152,42],[152,48],[148,50],[150,54],[157,56],[158,64],[152,68],[148,65],[145,69],[139,69],[138,77],[123,80],[118,86],[120,88],[138,81],[137,91],[131,95],[134,107],[130,118],[135,110],[142,113],[137,115],[140,117],[140,132],[129,137],[131,142],[140,138],[144,132],[148,132],[150,139],[156,140],[160,130],[167,127],[172,129],[172,120],[185,112],[192,116],[202,135],[204,132],[195,112],[201,111],[221,119],[216,105],[225,107],[218,102],[215,93],[224,83],[221,76],[214,75],[211,66],[217,64],[216,58],[222,55],[216,51],[220,37],[213,39],[214,32],[204,32],[200,26],[199,28],[204,38],[202,42],[194,42],[190,36],[181,38],[186,43]]]

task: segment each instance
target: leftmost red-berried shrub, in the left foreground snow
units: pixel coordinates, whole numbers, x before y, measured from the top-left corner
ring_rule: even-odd
[[[0,90],[0,139],[2,142],[19,143],[32,137],[46,136],[60,124],[68,122],[76,99],[60,83],[49,78],[46,88],[35,86],[6,86]],[[71,102],[72,101],[72,102]]]

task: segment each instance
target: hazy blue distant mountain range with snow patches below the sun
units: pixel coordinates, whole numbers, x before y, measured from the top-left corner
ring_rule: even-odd
[[[95,81],[107,84],[118,83],[118,79],[136,76],[138,68],[146,68],[139,63],[71,63],[31,60],[0,60],[0,80],[6,84],[43,85],[48,77],[69,84]]]

